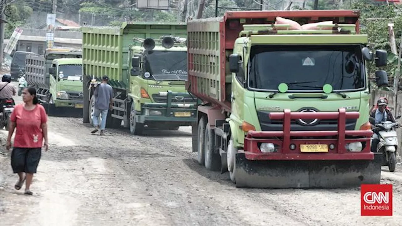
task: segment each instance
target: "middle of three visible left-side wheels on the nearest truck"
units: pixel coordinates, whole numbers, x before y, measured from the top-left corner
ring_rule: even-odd
[[[213,130],[209,127],[209,123],[207,123],[205,127],[205,152],[204,152],[204,160],[205,160],[205,168],[211,171],[218,171],[221,169],[221,158],[219,153],[215,152],[215,135],[213,134]]]

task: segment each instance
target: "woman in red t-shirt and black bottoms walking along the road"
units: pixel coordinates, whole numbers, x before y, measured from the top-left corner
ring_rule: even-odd
[[[11,167],[13,172],[18,174],[19,180],[14,187],[17,190],[21,189],[26,180],[25,194],[32,195],[29,186],[41,159],[43,140],[45,150],[48,149],[47,115],[45,108],[38,104],[35,88],[25,88],[22,96],[24,103],[16,105],[10,116],[6,148],[10,149],[11,137],[16,128]]]

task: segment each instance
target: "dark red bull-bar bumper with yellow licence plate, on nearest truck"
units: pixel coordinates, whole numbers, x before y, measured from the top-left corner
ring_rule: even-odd
[[[283,131],[248,131],[244,154],[248,160],[373,160],[371,130],[346,130],[346,119],[359,118],[359,112],[300,113],[285,109],[270,113],[270,119],[283,120]],[[338,119],[337,131],[290,131],[294,119]],[[361,144],[358,144],[360,142]],[[267,143],[267,144],[264,144]],[[261,145],[264,144],[265,148]],[[302,145],[310,150],[301,150]],[[319,145],[319,146],[317,146]],[[351,145],[358,145],[359,151]],[[269,147],[269,148],[267,148]],[[319,147],[319,148],[318,148]],[[262,151],[263,150],[263,151]]]

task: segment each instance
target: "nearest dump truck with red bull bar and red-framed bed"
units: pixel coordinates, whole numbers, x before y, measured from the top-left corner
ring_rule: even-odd
[[[274,24],[278,16],[333,22],[291,29]],[[387,55],[366,47],[358,10],[226,12],[187,31],[186,86],[203,102],[193,133],[200,164],[229,171],[237,187],[380,183],[366,66],[386,66]],[[384,70],[375,74],[388,84]]]

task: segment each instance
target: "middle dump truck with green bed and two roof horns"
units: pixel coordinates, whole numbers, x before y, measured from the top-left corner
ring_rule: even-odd
[[[195,123],[197,98],[185,90],[187,36],[183,23],[123,23],[121,27],[82,27],[84,123],[92,124],[103,75],[114,90],[107,127],[176,130]]]

